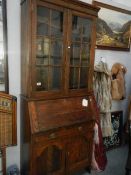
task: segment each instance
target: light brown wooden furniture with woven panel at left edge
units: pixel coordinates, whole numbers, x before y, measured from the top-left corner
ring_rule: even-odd
[[[2,173],[6,175],[6,148],[17,144],[17,98],[0,93],[0,150]]]

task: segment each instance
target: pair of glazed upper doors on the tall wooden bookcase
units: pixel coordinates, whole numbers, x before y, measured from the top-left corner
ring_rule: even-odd
[[[33,26],[36,26],[32,28],[33,96],[53,98],[78,92],[87,94],[93,78],[95,17],[44,1],[37,1],[35,7],[32,17]]]

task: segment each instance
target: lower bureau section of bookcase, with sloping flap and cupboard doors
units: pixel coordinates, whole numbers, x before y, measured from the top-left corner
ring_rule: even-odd
[[[83,99],[89,101],[88,106],[82,106]],[[22,155],[23,174],[69,175],[90,167],[95,118],[88,97],[24,100],[23,104],[28,106],[22,147],[26,152]]]

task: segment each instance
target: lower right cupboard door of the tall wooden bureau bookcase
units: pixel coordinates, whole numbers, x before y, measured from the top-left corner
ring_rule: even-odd
[[[92,143],[86,137],[73,138],[67,146],[68,171],[90,166],[92,155]]]

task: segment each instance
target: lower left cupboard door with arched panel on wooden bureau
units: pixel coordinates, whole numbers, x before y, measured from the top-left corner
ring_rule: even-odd
[[[32,156],[31,175],[64,175],[65,151],[62,144],[36,146]]]

